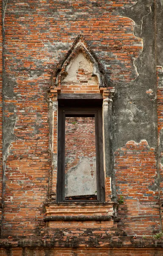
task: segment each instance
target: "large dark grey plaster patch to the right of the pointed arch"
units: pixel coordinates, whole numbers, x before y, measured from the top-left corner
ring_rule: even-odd
[[[134,6],[120,10],[122,16],[135,21],[135,35],[143,39],[143,51],[135,60],[139,76],[131,83],[116,85],[113,99],[113,148],[129,140],[147,140],[157,147],[155,6],[151,0],[139,0]],[[148,90],[153,93],[146,93]]]

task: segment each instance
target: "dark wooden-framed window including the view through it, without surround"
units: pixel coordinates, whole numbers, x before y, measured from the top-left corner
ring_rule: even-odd
[[[101,105],[59,102],[58,202],[105,201],[102,127]]]

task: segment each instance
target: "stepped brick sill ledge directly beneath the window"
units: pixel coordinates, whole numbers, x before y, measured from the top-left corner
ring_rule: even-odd
[[[46,205],[44,221],[50,228],[86,228],[116,226],[114,202],[68,202]]]

